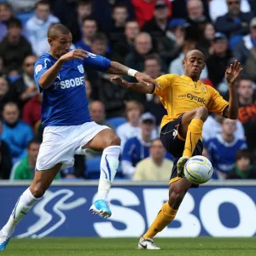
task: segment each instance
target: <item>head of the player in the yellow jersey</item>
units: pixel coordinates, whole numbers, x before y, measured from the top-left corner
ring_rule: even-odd
[[[183,61],[184,73],[190,78],[200,78],[202,70],[205,68],[205,57],[197,51],[190,51]]]

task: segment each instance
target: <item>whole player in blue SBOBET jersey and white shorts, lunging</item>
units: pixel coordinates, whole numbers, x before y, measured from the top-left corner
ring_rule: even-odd
[[[43,92],[43,143],[40,146],[32,184],[20,195],[7,224],[0,230],[0,250],[4,250],[15,226],[39,201],[61,168],[73,166],[74,154],[86,148],[102,150],[101,175],[96,201],[90,211],[103,218],[111,216],[108,192],[119,166],[120,139],[108,126],[90,118],[84,90],[84,66],[102,72],[130,75],[145,86],[159,86],[148,75],[118,62],[82,49],[70,50],[72,34],[66,26],[55,24],[48,32],[50,49],[35,64],[34,78]]]

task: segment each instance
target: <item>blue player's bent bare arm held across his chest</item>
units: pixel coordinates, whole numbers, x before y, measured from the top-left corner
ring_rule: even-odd
[[[87,58],[87,51],[83,49],[73,49],[69,51],[67,54],[62,55],[58,61],[52,67],[42,74],[41,78],[38,80],[38,84],[42,89],[47,89],[49,86],[55,81],[59,71],[61,70],[62,65],[65,61],[70,61],[73,59],[80,59],[83,60]],[[47,65],[47,62],[46,62]],[[44,67],[47,68],[47,67]]]

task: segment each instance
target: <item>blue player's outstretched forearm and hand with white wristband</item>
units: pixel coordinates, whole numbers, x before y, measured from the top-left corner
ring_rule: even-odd
[[[160,88],[160,84],[157,84],[156,81],[150,78],[147,74],[140,73],[137,70],[126,67],[119,62],[111,61],[110,67],[108,68],[108,73],[119,74],[119,75],[129,75],[137,79],[137,81],[144,86],[154,85]]]

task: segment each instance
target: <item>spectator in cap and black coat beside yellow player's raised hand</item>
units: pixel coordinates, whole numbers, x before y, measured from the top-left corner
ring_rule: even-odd
[[[224,33],[215,33],[212,42],[212,55],[207,60],[209,79],[215,88],[218,88],[218,84],[222,83],[226,67],[230,64],[230,58],[227,38]]]

